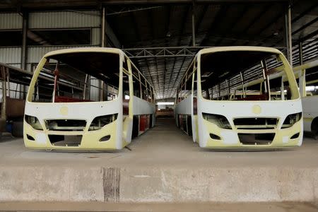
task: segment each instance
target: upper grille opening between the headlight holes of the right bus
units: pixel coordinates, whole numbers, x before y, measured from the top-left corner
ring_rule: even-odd
[[[278,118],[236,118],[233,119],[237,129],[276,129]]]

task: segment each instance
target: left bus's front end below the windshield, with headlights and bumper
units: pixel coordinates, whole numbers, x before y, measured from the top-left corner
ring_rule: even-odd
[[[44,149],[121,149],[120,101],[26,103],[25,146]],[[102,115],[101,115],[102,114]]]

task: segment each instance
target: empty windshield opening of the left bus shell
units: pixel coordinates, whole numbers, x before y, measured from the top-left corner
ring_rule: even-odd
[[[33,102],[114,100],[119,88],[119,54],[72,52],[47,57],[37,77]]]

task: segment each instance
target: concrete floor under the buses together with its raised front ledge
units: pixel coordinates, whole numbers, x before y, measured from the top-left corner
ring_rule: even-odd
[[[12,201],[141,204],[137,208],[172,204],[163,205],[167,210],[178,203],[193,203],[196,208],[198,202],[271,202],[264,208],[288,211],[285,204],[275,202],[318,201],[318,141],[310,138],[300,148],[211,151],[193,143],[173,119],[158,119],[129,148],[47,152],[25,148],[22,139],[4,137],[0,141],[0,208]],[[311,211],[313,206],[318,211],[317,204],[295,208]]]

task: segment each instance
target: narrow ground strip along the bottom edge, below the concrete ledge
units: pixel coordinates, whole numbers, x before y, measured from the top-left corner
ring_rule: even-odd
[[[317,203],[270,202],[270,203],[155,203],[117,204],[101,202],[0,202],[3,211],[213,211],[213,212],[317,212]]]

